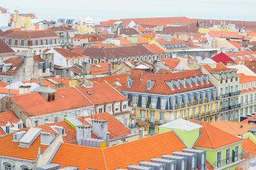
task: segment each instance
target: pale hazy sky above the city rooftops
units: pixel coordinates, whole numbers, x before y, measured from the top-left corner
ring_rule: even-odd
[[[109,19],[187,16],[256,21],[255,0],[1,0],[1,6],[38,18]]]

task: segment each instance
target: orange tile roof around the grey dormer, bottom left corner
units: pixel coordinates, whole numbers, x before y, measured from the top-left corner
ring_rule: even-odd
[[[27,160],[35,160],[38,156],[38,147],[44,152],[48,145],[40,145],[40,135],[30,145],[29,148],[18,147],[19,142],[12,142],[13,134],[0,137],[0,155],[5,157],[14,157]]]

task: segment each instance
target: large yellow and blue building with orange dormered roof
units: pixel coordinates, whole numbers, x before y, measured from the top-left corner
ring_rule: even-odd
[[[178,118],[186,120],[218,120],[216,87],[199,69],[172,74],[153,74],[133,69],[127,74],[122,94],[136,117],[150,123],[150,132],[157,126]]]

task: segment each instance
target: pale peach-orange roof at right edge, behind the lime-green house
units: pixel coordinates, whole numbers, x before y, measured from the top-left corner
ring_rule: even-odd
[[[228,120],[220,120],[210,124],[234,136],[238,136],[238,135],[243,136],[245,135],[245,133],[248,132],[248,130],[250,130],[253,127],[256,127],[255,124],[238,123],[238,122],[232,122]]]

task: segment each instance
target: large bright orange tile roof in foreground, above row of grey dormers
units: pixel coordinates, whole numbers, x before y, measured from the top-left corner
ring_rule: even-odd
[[[166,132],[104,149],[62,144],[52,163],[62,164],[62,167],[78,166],[79,169],[127,169],[130,164],[150,162],[153,157],[181,152],[184,148],[186,146],[174,132]]]

